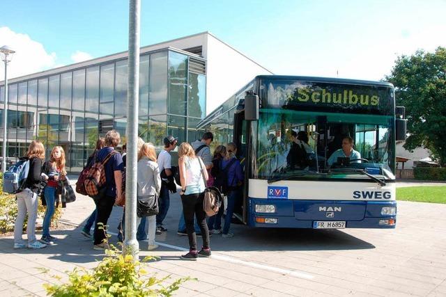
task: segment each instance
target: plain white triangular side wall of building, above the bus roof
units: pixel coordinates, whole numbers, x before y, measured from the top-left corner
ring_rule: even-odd
[[[208,34],[206,66],[206,115],[243,88],[256,75],[272,74],[236,49]]]

